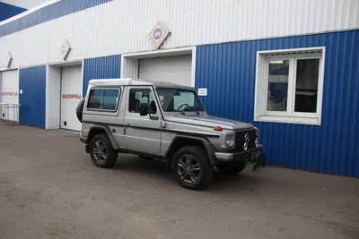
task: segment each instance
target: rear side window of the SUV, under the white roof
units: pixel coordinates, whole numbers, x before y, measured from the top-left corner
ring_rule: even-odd
[[[88,109],[114,111],[118,107],[119,89],[93,89],[90,90]]]

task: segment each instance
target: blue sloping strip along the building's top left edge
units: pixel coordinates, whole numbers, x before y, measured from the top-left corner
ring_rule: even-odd
[[[110,1],[112,0],[61,0],[56,4],[50,4],[34,13],[30,13],[21,19],[0,26],[0,37]]]

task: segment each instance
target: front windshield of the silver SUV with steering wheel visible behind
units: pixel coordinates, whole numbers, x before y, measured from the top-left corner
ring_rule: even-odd
[[[161,101],[163,111],[205,111],[193,90],[157,88],[157,94]]]

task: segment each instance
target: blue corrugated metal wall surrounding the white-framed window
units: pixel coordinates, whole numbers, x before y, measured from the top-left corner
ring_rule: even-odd
[[[253,122],[258,50],[326,47],[320,126],[256,122],[268,163],[359,177],[359,30],[197,47],[196,87],[211,115]]]

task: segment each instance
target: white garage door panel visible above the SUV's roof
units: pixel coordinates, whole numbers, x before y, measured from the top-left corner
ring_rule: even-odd
[[[140,79],[191,86],[192,55],[141,59]]]

